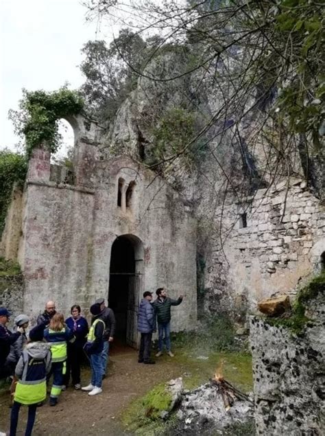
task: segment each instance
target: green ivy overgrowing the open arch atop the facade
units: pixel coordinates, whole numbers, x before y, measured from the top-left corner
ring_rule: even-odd
[[[10,111],[16,133],[25,135],[25,148],[30,157],[32,150],[40,145],[56,152],[61,136],[58,133],[58,120],[69,115],[77,115],[84,107],[84,100],[77,91],[62,87],[58,91],[28,92],[23,90],[19,111]]]

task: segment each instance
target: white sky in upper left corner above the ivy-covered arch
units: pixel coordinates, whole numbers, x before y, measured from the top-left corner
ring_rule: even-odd
[[[0,149],[14,150],[19,141],[8,111],[18,108],[23,88],[54,91],[65,82],[71,89],[82,84],[82,46],[107,39],[85,15],[81,0],[0,0]]]

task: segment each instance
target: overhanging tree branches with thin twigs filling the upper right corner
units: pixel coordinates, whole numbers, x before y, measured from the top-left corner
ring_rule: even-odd
[[[125,5],[118,0],[91,0],[88,11],[101,18],[120,14],[124,25],[130,25],[133,17],[134,35],[160,35],[142,68],[125,57],[137,75],[163,84],[189,77],[197,84],[196,95],[208,89],[216,96],[218,104],[206,126],[195,132],[196,139],[207,132],[209,141],[230,135],[242,167],[248,165],[250,174],[253,154],[247,154],[245,144],[250,150],[267,148],[261,159],[265,165],[259,170],[268,183],[276,180],[276,174],[294,174],[298,155],[307,181],[315,194],[322,195],[322,183],[317,187],[311,171],[324,164],[322,1],[166,0],[158,5],[149,0]],[[167,45],[186,47],[188,62],[186,71],[167,71],[161,77],[149,65]],[[182,150],[192,143],[193,139]],[[178,156],[169,154],[165,159],[170,162]]]

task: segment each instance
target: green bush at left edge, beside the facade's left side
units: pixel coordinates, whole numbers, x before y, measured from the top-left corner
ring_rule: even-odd
[[[0,235],[5,226],[5,216],[14,183],[23,185],[27,174],[27,161],[22,154],[10,150],[0,151]]]

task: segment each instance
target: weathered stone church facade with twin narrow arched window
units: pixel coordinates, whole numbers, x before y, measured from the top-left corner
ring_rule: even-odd
[[[86,140],[86,135],[79,124],[74,185],[62,183],[66,174],[51,168],[49,152],[34,150],[29,161],[22,236],[16,244],[25,277],[23,310],[34,318],[53,299],[65,314],[73,303],[87,313],[97,297],[111,299],[114,292],[116,306],[124,305],[121,317],[128,324],[129,343],[134,344],[143,292],[166,286],[171,297],[186,294],[174,309],[172,329],[194,328],[195,220],[163,179],[129,157],[97,159],[94,138]],[[114,256],[122,263],[119,243],[127,252],[125,268],[119,264],[121,271],[113,274],[132,279],[115,279],[115,289],[110,290],[115,242]],[[128,257],[134,266],[126,265]],[[128,299],[127,305],[123,299]]]

